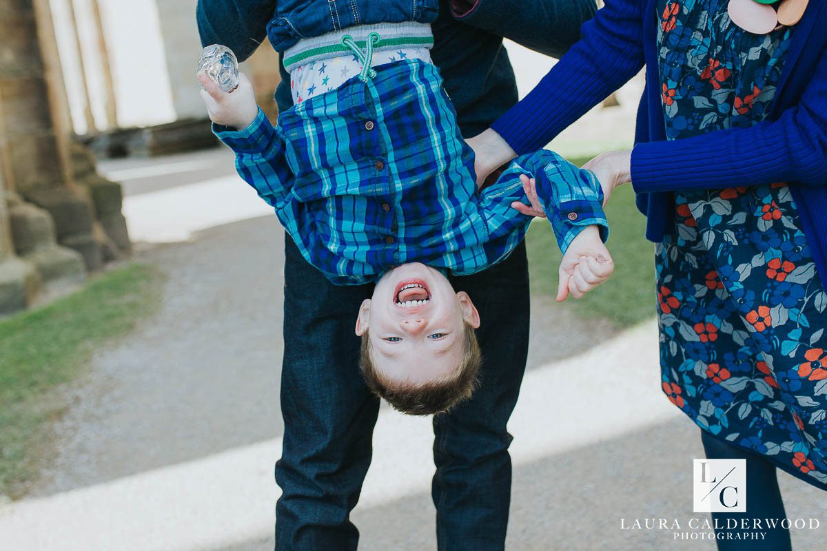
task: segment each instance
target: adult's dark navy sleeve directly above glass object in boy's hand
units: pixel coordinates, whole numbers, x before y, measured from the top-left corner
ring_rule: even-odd
[[[198,0],[195,18],[201,45],[225,45],[239,61],[244,61],[264,40],[275,3],[276,0]]]

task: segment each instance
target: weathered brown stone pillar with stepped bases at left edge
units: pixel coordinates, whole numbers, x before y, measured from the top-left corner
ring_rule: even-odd
[[[0,0],[0,314],[129,251],[121,188],[67,126],[45,0]]]

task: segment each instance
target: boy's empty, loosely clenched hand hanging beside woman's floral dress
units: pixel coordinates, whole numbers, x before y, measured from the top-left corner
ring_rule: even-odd
[[[597,226],[587,227],[571,241],[563,255],[557,302],[565,301],[570,292],[575,298],[584,297],[609,279],[612,272],[614,262],[600,240],[600,231]]]

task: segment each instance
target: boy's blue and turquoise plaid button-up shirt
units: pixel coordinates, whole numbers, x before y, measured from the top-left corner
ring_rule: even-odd
[[[369,283],[408,262],[467,275],[506,259],[532,220],[511,207],[528,204],[522,173],[537,178],[563,251],[586,226],[606,239],[593,173],[541,150],[477,192],[438,69],[410,60],[375,69],[281,113],[277,127],[261,109],[244,130],[213,126],[241,178],[332,283]]]

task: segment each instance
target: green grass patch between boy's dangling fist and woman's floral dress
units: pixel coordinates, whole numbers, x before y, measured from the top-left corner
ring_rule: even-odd
[[[583,164],[588,159],[575,159]],[[609,281],[566,304],[579,316],[605,317],[618,328],[643,321],[655,314],[653,244],[644,237],[646,219],[634,206],[632,186],[612,194],[606,207],[609,219],[609,252],[614,274]],[[526,238],[533,294],[557,297],[557,268],[562,254],[551,225],[534,221]]]

